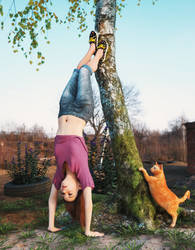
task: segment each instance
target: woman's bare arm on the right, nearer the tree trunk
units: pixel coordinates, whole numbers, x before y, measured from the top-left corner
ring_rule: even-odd
[[[83,190],[83,196],[85,201],[85,235],[93,237],[104,236],[103,233],[90,231],[92,209],[93,209],[91,187],[86,187]]]

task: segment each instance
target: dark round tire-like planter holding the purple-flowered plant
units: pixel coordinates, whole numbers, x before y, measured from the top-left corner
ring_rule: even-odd
[[[51,188],[51,181],[45,177],[40,182],[16,185],[8,182],[4,185],[4,194],[12,197],[28,197],[38,194],[46,193]]]

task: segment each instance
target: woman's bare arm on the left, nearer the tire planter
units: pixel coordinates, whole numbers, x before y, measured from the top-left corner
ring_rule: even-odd
[[[57,205],[57,199],[58,199],[58,190],[56,189],[55,185],[52,184],[51,192],[49,196],[49,226],[48,230],[51,232],[59,231],[60,228],[57,228],[54,226],[55,224],[55,213],[56,213],[56,205]]]

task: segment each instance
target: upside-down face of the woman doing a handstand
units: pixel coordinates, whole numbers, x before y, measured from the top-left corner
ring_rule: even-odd
[[[65,201],[74,201],[77,197],[78,191],[81,189],[80,183],[71,176],[66,177],[60,187],[61,194]]]

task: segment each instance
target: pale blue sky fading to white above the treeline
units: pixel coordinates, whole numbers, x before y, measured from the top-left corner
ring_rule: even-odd
[[[140,92],[139,121],[155,130],[166,129],[181,115],[195,121],[195,1],[159,0],[153,6],[142,0],[140,7],[136,0],[126,2],[123,17],[117,17],[116,62],[123,84]],[[62,12],[63,5],[56,8]],[[69,30],[55,26],[49,32],[51,44],[41,42],[46,63],[39,72],[21,53],[12,52],[9,25],[0,31],[0,129],[38,124],[55,134],[59,98],[88,49],[92,19],[88,26],[81,38],[74,25]]]

